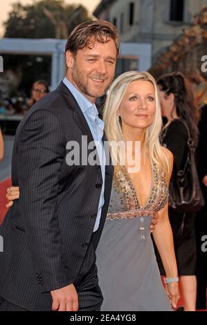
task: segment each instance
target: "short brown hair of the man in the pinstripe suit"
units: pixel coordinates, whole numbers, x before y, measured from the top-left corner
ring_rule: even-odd
[[[118,55],[120,37],[116,27],[105,20],[85,21],[73,29],[66,42],[65,51],[69,50],[73,55],[76,55],[78,50],[86,47],[93,48],[95,41],[107,43],[109,39],[114,40]]]

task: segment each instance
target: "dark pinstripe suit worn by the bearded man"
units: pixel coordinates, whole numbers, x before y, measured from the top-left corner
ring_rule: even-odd
[[[80,310],[100,306],[95,250],[113,169],[106,167],[105,205],[93,234],[102,185],[100,166],[66,164],[66,143],[93,137],[73,95],[61,83],[30,109],[17,129],[12,184],[20,197],[0,227],[0,297],[28,310],[51,310],[50,291],[75,284]],[[85,309],[86,308],[86,309]],[[87,309],[88,308],[88,309]]]

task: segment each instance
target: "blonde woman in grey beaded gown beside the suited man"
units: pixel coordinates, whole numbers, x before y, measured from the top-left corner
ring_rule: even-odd
[[[107,220],[97,249],[102,310],[172,310],[179,288],[172,230],[168,221],[168,183],[173,158],[161,147],[161,109],[156,83],[149,73],[127,72],[109,89],[104,109],[105,131],[111,145],[114,183]],[[131,160],[140,143],[140,170]],[[124,162],[124,164],[123,164]],[[121,164],[122,163],[122,164]],[[136,164],[135,164],[136,165]],[[11,188],[12,189],[12,188]],[[12,192],[13,198],[19,192]],[[9,203],[12,204],[12,203]],[[159,223],[154,240],[165,266],[165,290],[150,237],[154,214]]]

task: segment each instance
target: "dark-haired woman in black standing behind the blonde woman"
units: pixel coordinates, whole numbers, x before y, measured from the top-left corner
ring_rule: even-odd
[[[188,131],[181,119],[188,124],[190,136],[197,145],[199,113],[194,104],[190,83],[181,73],[161,76],[158,85],[162,114],[168,120],[163,128],[163,144],[174,156],[173,178],[186,163],[188,156]],[[184,310],[194,311],[197,293],[195,213],[179,213],[169,207],[169,219],[174,236],[183,307]]]

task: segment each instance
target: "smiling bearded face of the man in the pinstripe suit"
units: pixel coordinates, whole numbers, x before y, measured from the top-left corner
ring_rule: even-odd
[[[105,94],[114,79],[116,46],[113,39],[107,43],[95,41],[93,48],[78,50],[75,57],[67,51],[66,77],[90,102]]]

